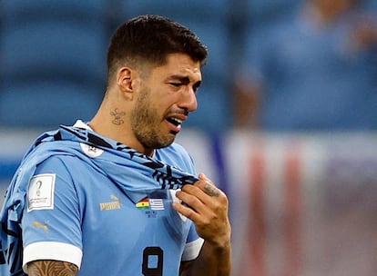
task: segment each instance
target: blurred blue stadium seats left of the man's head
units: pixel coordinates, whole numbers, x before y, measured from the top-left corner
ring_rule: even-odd
[[[89,119],[104,91],[107,1],[0,3],[0,126]]]

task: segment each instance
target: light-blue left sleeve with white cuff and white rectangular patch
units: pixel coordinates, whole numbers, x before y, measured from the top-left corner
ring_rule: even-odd
[[[81,265],[81,216],[74,182],[61,157],[48,158],[29,183],[22,219],[25,264],[36,260]]]

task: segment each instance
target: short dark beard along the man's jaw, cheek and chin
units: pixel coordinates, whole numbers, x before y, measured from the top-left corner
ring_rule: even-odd
[[[164,134],[160,129],[164,120],[150,101],[150,89],[143,87],[131,112],[131,127],[138,141],[149,149],[164,148],[173,143],[175,134]]]

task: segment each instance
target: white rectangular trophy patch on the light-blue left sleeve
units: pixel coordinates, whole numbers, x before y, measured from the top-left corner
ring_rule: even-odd
[[[55,173],[37,174],[27,192],[27,212],[54,209]]]

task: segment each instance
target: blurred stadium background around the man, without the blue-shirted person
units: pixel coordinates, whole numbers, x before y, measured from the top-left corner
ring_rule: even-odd
[[[199,111],[178,142],[229,194],[232,275],[375,275],[375,130],[275,133],[232,125],[229,73],[242,59],[247,26],[279,20],[299,2],[2,0],[0,203],[39,133],[96,111],[115,27],[134,15],[168,15],[209,45]]]

